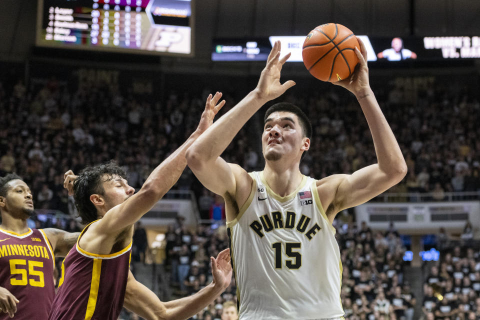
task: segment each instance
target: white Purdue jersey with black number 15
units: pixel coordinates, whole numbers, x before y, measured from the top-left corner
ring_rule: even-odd
[[[315,179],[281,197],[263,171],[249,174],[250,195],[227,223],[239,319],[341,317],[340,250]]]

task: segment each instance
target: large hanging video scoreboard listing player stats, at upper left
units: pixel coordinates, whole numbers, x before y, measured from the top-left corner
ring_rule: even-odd
[[[38,0],[36,44],[192,55],[194,0]]]

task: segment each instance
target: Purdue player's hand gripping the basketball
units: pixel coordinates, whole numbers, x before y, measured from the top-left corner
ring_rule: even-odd
[[[360,48],[358,49],[355,47],[355,54],[359,60],[358,64],[355,66],[355,70],[348,78],[332,83],[340,85],[355,94],[355,96],[358,96],[359,94],[363,94],[365,90],[370,89],[370,83],[368,80],[368,66],[366,64],[366,48],[359,37],[356,39],[360,44]]]

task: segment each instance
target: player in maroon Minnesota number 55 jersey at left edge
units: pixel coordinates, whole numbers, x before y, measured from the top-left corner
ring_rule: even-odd
[[[0,178],[0,213],[0,320],[46,320],[55,295],[54,257],[65,256],[79,233],[30,229],[32,194],[16,174]]]

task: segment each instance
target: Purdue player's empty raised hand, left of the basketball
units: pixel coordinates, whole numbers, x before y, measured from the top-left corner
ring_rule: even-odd
[[[282,95],[283,92],[295,85],[295,82],[292,80],[288,80],[283,84],[280,83],[281,67],[290,57],[290,52],[288,52],[280,59],[280,48],[280,41],[275,41],[255,88],[258,97],[267,101]]]

